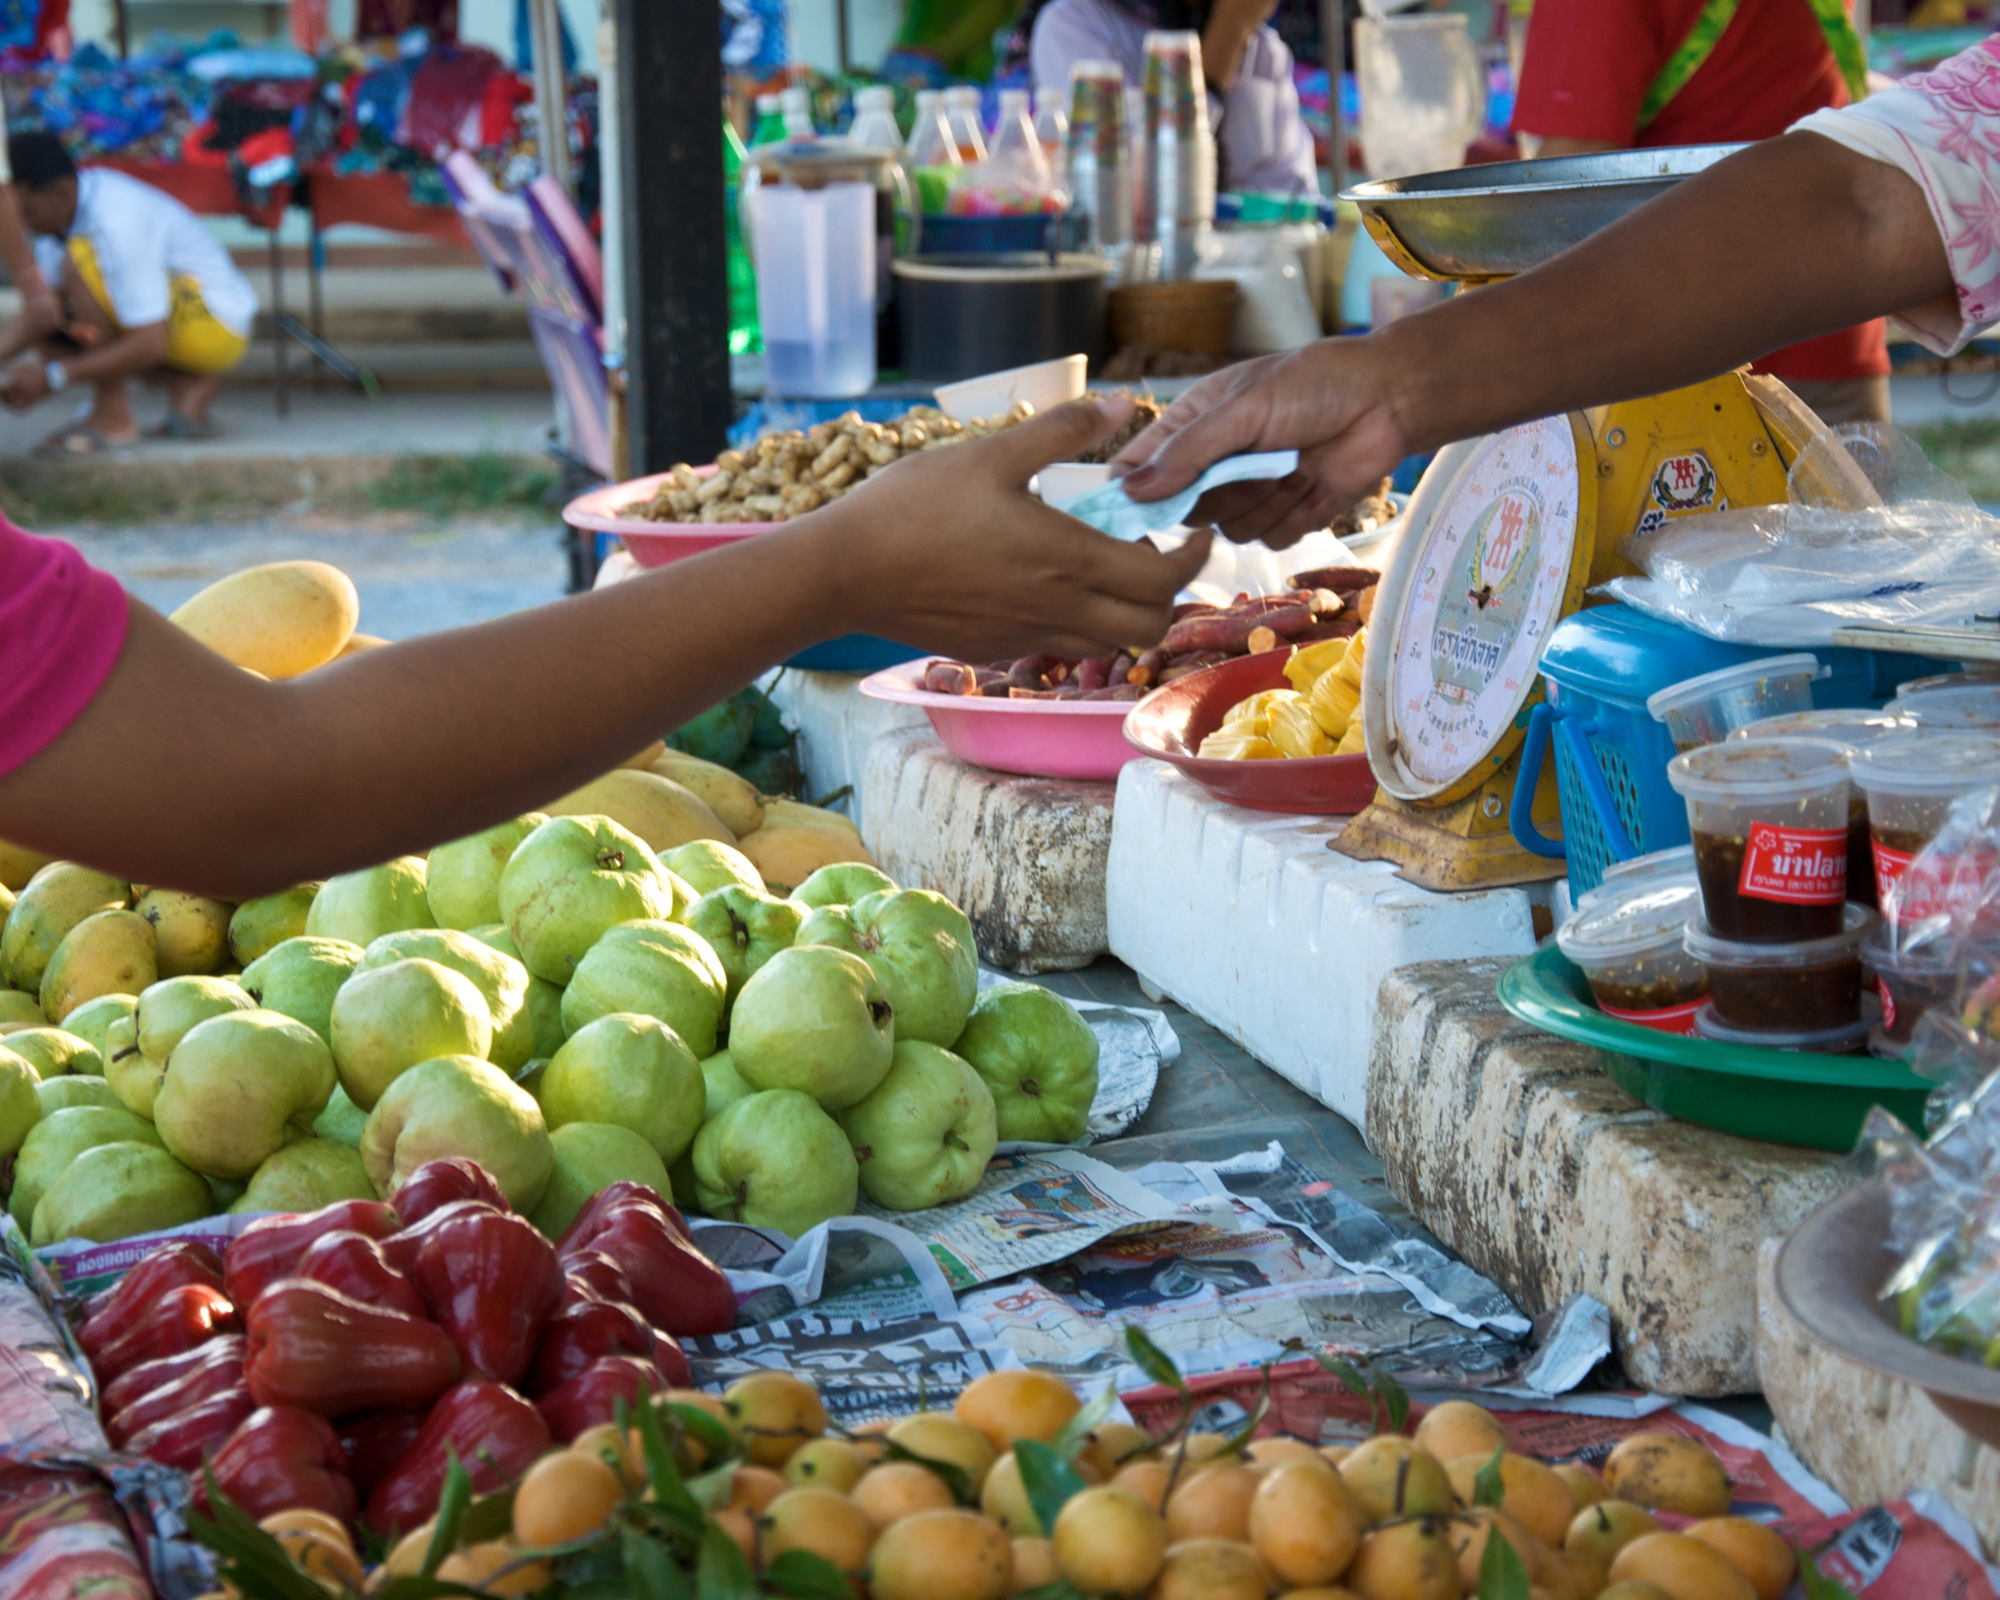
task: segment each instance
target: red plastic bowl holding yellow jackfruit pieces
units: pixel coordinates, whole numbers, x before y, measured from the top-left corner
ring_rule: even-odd
[[[1236,656],[1176,678],[1132,708],[1124,736],[1142,756],[1172,762],[1232,806],[1298,816],[1352,816],[1374,800],[1374,770],[1366,756],[1218,762],[1194,754],[1238,700],[1266,688],[1290,688],[1284,676],[1290,658],[1290,650],[1266,650],[1262,656]]]

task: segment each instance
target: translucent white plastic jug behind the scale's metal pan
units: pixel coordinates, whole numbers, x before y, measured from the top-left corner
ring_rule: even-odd
[[[1486,118],[1486,70],[1464,16],[1356,18],[1354,76],[1370,178],[1466,164]]]

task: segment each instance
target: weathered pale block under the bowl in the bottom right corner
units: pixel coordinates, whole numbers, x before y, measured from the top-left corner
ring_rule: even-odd
[[[1778,1240],[1766,1240],[1756,1370],[1792,1452],[1854,1506],[1934,1490],[1966,1514],[1988,1552],[2000,1548],[2000,1454],[1968,1440],[1922,1390],[1814,1342],[1778,1298],[1776,1262]]]

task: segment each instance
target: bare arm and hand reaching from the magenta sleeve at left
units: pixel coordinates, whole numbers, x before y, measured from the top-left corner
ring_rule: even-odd
[[[1206,540],[1162,556],[1026,492],[1126,416],[1064,406],[726,550],[282,684],[134,602],[90,708],[0,778],[0,838],[234,900],[532,810],[822,638],[974,660],[1152,642]]]

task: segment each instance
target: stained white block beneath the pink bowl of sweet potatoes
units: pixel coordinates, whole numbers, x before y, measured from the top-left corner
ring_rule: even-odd
[[[1110,784],[966,766],[924,726],[868,746],[860,798],[882,870],[964,906],[992,966],[1068,972],[1110,948]]]

